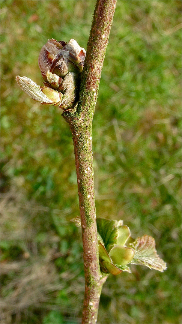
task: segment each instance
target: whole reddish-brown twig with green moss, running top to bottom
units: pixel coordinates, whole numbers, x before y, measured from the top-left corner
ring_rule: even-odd
[[[73,135],[78,196],[82,224],[85,297],[82,323],[96,323],[102,286],[107,275],[100,272],[97,244],[94,170],[92,158],[92,120],[98,86],[116,0],[97,0],[87,44],[80,100],[73,110],[63,113]]]

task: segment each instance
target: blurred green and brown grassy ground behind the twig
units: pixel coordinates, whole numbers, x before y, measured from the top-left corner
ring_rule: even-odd
[[[41,47],[86,50],[95,1],[1,1],[1,323],[81,323],[84,271],[72,136],[33,101]],[[98,217],[155,238],[164,273],[104,284],[98,323],[181,323],[181,1],[118,1],[93,120]]]

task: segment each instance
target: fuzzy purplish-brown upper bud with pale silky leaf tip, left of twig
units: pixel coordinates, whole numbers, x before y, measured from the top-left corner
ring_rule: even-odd
[[[84,48],[73,39],[68,44],[50,39],[39,55],[45,86],[38,86],[26,76],[19,75],[16,76],[17,83],[32,99],[43,105],[56,105],[63,110],[73,108],[78,101],[85,56]]]

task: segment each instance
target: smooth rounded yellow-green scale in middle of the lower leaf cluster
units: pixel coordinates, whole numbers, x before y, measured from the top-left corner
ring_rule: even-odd
[[[134,257],[134,250],[124,246],[116,245],[110,252],[109,256],[114,264],[126,265]]]

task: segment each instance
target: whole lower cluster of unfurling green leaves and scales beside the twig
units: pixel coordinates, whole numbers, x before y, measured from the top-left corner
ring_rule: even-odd
[[[81,227],[79,217],[72,221]],[[121,220],[97,218],[97,240],[100,270],[104,273],[117,275],[122,271],[131,272],[128,263],[142,264],[162,272],[166,269],[166,263],[155,250],[154,238],[144,235],[134,241],[129,227]]]

